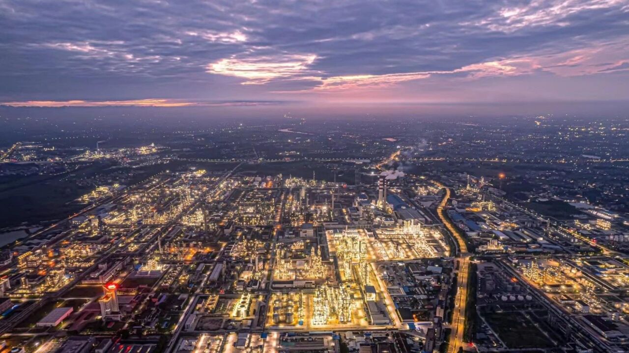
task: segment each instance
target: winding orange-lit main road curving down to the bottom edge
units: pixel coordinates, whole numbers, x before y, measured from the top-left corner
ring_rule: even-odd
[[[439,187],[445,188],[445,195],[437,207],[437,214],[446,229],[457,240],[459,247],[459,257],[455,260],[459,262],[459,271],[457,278],[457,295],[454,299],[454,312],[452,314],[452,333],[450,334],[450,342],[448,343],[448,352],[457,352],[459,347],[464,345],[463,335],[465,331],[465,307],[467,305],[467,277],[469,276],[469,254],[467,253],[467,244],[457,231],[456,225],[452,223],[450,217],[445,215],[445,206],[450,199],[450,188],[437,183]]]

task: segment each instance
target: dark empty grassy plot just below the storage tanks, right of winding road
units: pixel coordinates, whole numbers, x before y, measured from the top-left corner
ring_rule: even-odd
[[[553,347],[542,331],[521,312],[486,313],[484,318],[510,349]]]

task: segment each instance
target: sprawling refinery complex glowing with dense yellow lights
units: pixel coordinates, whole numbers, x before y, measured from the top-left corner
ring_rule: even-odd
[[[348,187],[194,169],[103,189],[106,202],[8,254],[19,271],[0,282],[0,327],[163,335],[169,353],[327,352],[338,332],[352,349],[433,351],[473,318],[476,342],[495,349],[578,345],[586,332],[611,347],[629,334],[622,259],[562,255],[591,244],[484,180],[453,197],[401,171],[370,177]],[[465,291],[475,317],[457,316]],[[538,339],[511,337],[509,317]]]

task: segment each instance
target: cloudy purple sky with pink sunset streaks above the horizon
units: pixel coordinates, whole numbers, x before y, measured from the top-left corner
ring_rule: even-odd
[[[629,0],[0,0],[0,25],[11,107],[629,100]]]

